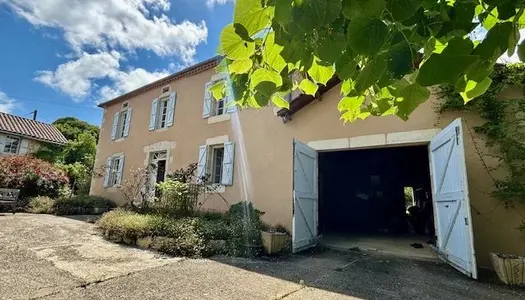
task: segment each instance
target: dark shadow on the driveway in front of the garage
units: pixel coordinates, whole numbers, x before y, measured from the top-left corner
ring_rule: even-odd
[[[317,248],[284,258],[213,260],[358,299],[525,299],[525,289],[504,286],[487,270],[476,281],[441,262],[378,253]]]

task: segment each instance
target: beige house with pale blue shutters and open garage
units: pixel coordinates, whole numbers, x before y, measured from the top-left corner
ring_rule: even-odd
[[[251,201],[265,221],[290,230],[296,251],[364,241],[359,245],[426,257],[434,248],[471,277],[476,262],[490,266],[489,252],[525,254],[519,213],[489,195],[493,182],[477,154],[485,144],[470,133],[479,116],[439,114],[433,95],[406,122],[388,116],[345,125],[337,79],[316,98],[295,93],[289,110],[230,108],[207,91],[226,79],[217,63],[201,62],[100,104],[96,165],[112,172],[94,179],[92,194],[122,202],[115,186],[131,169],[154,163],[160,181],[198,163],[198,175],[210,174],[220,186],[220,196],[202,196],[203,209]]]

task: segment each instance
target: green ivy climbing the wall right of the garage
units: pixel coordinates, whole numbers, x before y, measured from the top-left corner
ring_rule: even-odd
[[[525,64],[497,65],[490,77],[492,84],[487,92],[467,104],[453,86],[440,86],[442,102],[439,111],[468,110],[485,120],[484,124],[473,129],[485,137],[490,149],[495,150],[487,154],[476,149],[494,182],[491,195],[501,201],[498,205],[503,204],[519,213],[515,204],[525,204],[525,97],[500,99],[499,95],[507,86],[524,89]],[[489,156],[497,159],[499,167],[508,171],[503,179],[492,176],[495,169],[485,163],[485,157]],[[518,229],[525,231],[525,217],[522,218],[523,224]]]

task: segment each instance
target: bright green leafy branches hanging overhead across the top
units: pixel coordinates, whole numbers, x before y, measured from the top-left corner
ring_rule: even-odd
[[[496,60],[516,49],[525,28],[524,0],[237,0],[233,23],[221,34],[220,71],[243,107],[339,77],[338,105],[346,121],[396,114],[406,120],[428,87],[451,84],[464,102],[490,86]],[[484,38],[474,30],[483,27]],[[301,82],[291,75],[301,73]]]

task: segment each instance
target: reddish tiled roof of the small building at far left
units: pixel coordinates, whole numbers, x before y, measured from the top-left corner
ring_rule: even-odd
[[[53,125],[0,112],[0,131],[35,140],[65,144],[67,139]]]

